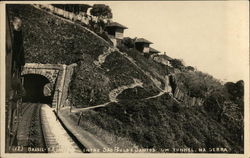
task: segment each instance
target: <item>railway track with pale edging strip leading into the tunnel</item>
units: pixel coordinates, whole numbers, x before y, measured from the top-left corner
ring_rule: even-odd
[[[17,143],[20,153],[81,153],[46,104],[23,103]],[[21,149],[20,149],[21,148]],[[15,149],[15,148],[14,148]]]

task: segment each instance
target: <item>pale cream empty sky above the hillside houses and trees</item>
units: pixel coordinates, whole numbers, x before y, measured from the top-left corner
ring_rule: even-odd
[[[125,37],[151,46],[186,65],[227,82],[245,79],[249,67],[247,1],[98,1],[113,21],[128,27]]]

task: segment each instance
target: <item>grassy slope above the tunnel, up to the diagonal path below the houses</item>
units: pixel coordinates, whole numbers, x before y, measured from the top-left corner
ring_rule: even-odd
[[[117,52],[97,67],[93,62],[110,45],[81,26],[30,5],[9,5],[9,9],[12,16],[22,19],[26,62],[77,63],[69,90],[74,105],[84,107],[105,103],[112,89],[131,84],[133,78],[144,83],[145,93],[158,93],[152,81]]]

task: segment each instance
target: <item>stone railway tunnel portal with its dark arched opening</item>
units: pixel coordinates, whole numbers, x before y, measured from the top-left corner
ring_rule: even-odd
[[[21,72],[24,102],[45,103],[51,107],[66,105],[68,87],[76,64],[26,63]]]

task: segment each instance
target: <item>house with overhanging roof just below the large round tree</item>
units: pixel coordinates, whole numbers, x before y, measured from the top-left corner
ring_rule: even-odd
[[[106,26],[106,31],[114,46],[123,39],[124,30],[128,29],[126,26],[117,22],[111,22]]]

